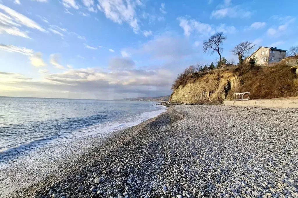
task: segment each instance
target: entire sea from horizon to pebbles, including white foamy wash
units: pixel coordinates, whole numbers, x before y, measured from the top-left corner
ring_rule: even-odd
[[[165,110],[146,101],[0,97],[0,197]]]

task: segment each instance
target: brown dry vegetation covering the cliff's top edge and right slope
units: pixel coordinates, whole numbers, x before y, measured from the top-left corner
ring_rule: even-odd
[[[236,92],[249,91],[251,93],[250,99],[298,96],[298,77],[291,71],[290,66],[285,64],[285,61],[272,67],[251,67],[249,64],[244,64],[221,70],[180,75],[174,81],[172,89],[175,91],[179,86],[183,88],[188,83],[195,83],[200,80],[204,80],[204,84],[206,84],[206,80],[208,81],[208,79],[204,78],[204,76],[207,74],[218,74],[218,81],[220,81],[223,73],[226,72],[231,72],[232,76],[238,76]],[[213,90],[214,88],[206,87],[206,90],[207,89]],[[227,92],[226,96],[228,97],[232,97],[235,90],[234,85],[228,91],[224,90],[224,87],[217,87],[216,89],[222,89],[219,93]]]

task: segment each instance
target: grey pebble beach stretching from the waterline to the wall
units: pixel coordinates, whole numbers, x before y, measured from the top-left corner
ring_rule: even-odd
[[[298,197],[298,112],[177,105],[7,197]]]

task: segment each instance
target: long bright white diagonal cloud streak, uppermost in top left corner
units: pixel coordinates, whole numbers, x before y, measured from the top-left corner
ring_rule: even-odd
[[[9,7],[6,7],[3,4],[0,4],[0,9],[2,9],[4,12],[6,12],[8,15],[10,15],[10,17],[17,24],[27,26],[29,28],[37,29],[42,32],[46,32],[46,30],[44,28],[42,28],[41,26],[39,26],[37,23],[35,23],[35,21],[14,11],[13,9],[10,9]]]

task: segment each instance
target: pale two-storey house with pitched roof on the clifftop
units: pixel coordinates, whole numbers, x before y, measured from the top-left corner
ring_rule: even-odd
[[[249,61],[250,58],[256,60],[256,64],[263,65],[267,63],[279,62],[285,58],[285,53],[288,50],[277,49],[276,47],[259,47],[252,55],[245,60]]]

